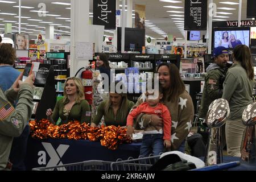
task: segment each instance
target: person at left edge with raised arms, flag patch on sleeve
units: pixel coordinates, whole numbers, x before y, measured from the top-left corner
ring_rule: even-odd
[[[6,93],[0,88],[0,171],[11,169],[8,158],[13,138],[22,134],[32,113],[34,74],[24,82],[20,78],[22,75]],[[16,98],[18,103],[14,109],[13,102]]]

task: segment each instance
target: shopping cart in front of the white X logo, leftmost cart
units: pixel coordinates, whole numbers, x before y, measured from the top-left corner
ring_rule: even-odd
[[[80,163],[33,168],[32,171],[110,171],[111,163],[103,160],[86,160]]]

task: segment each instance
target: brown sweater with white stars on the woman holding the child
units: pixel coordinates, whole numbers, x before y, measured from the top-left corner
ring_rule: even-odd
[[[140,105],[142,102],[143,101],[140,97],[135,106]],[[180,94],[180,96],[174,102],[164,101],[163,104],[168,107],[172,118],[171,150],[178,150],[180,144],[185,140],[185,138],[187,138],[193,122],[193,101],[188,92],[185,91],[184,93]],[[150,118],[151,115],[142,113],[139,115],[139,117],[137,117],[137,123],[143,121],[143,127],[148,127],[148,125],[150,125]]]

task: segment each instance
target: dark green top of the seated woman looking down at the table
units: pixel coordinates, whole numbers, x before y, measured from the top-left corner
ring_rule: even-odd
[[[93,123],[95,123],[96,125],[98,125],[98,123],[100,123],[102,116],[104,116],[104,121],[106,126],[126,126],[126,120],[127,120],[127,116],[130,112],[130,110],[133,108],[134,106],[134,102],[132,101],[127,101],[127,115],[125,116],[125,118],[122,118],[122,113],[121,110],[118,109],[117,111],[117,115],[114,115],[114,111],[112,109],[112,107],[109,108],[109,114],[106,114],[105,112],[105,106],[106,103],[108,101],[103,101],[101,102],[100,106],[98,106],[98,110],[97,110],[97,115],[96,117],[93,119]]]

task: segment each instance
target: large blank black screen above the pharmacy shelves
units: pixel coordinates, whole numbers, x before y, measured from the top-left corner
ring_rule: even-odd
[[[122,28],[117,27],[117,51],[121,51]],[[130,45],[135,44],[134,51],[142,52],[145,46],[145,29],[125,28],[125,51],[130,51]]]

